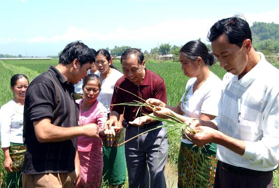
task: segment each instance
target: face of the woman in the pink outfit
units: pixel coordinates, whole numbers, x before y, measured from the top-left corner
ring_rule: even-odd
[[[83,87],[84,99],[88,102],[94,102],[100,93],[97,80],[90,80]]]

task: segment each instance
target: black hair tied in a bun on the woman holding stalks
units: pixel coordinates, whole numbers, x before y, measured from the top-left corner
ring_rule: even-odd
[[[216,59],[212,52],[208,52],[207,47],[200,41],[189,41],[180,50],[180,53],[184,53],[186,57],[195,61],[197,57],[201,57],[202,61],[211,66],[216,62]]]

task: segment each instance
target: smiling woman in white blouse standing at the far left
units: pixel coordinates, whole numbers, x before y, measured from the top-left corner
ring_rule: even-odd
[[[11,78],[14,98],[0,109],[1,147],[4,153],[4,167],[7,170],[7,186],[21,187],[21,169],[26,148],[23,145],[23,107],[28,79],[24,74]]]

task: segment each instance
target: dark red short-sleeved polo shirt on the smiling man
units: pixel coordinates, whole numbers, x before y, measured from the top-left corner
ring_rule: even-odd
[[[160,76],[158,76],[158,74],[147,69],[145,70],[146,70],[145,78],[139,87],[134,85],[133,82],[129,81],[124,76],[121,77],[116,82],[115,86],[125,89],[135,94],[136,96],[143,98],[144,100],[147,100],[149,98],[156,98],[166,103],[166,87],[165,87],[164,80]],[[140,98],[126,91],[123,91],[117,87],[114,88],[111,104],[133,102],[133,100],[144,102]],[[125,107],[125,111],[124,111],[124,107]],[[140,106],[114,105],[111,106],[110,110],[117,111],[119,114],[123,114],[124,111],[124,119],[127,122],[133,121],[136,117],[143,116],[142,113],[143,114],[152,113],[152,110],[143,107],[136,116],[136,112],[139,107]]]

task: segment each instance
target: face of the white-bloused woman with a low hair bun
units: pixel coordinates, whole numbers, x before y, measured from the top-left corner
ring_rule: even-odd
[[[185,76],[194,78],[198,72],[197,60],[192,61],[184,53],[179,53],[179,61],[181,63],[181,69],[183,70]]]

